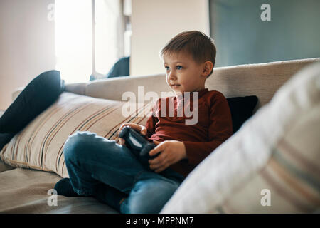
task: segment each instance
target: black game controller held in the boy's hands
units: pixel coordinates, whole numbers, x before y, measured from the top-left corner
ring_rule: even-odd
[[[144,165],[149,166],[148,160],[159,155],[158,153],[154,156],[150,156],[149,151],[154,149],[156,145],[146,140],[144,135],[141,135],[137,130],[134,130],[130,126],[122,128],[119,133],[119,138],[123,138],[125,140],[125,145],[138,157],[140,161],[144,163]]]

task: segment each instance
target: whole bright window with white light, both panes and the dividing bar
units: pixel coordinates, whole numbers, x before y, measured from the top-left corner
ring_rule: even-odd
[[[125,54],[123,0],[55,0],[56,68],[66,83],[102,78]]]

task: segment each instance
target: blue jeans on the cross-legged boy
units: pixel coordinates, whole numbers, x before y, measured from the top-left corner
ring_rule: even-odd
[[[184,178],[171,169],[152,172],[127,147],[89,131],[70,135],[64,156],[78,195],[95,195],[102,183],[108,185],[127,194],[120,206],[122,213],[159,213]]]

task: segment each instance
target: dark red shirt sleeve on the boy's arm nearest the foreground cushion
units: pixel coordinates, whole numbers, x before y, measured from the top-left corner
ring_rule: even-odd
[[[183,142],[188,163],[198,165],[232,134],[233,123],[228,101],[222,93],[219,93],[210,100],[208,142]]]

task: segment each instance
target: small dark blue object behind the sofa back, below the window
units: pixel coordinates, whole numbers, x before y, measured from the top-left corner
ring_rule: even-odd
[[[109,73],[105,75],[105,78],[115,78],[122,76],[129,76],[129,66],[130,66],[130,57],[120,58],[114,66],[111,68]],[[90,81],[95,80],[95,76],[90,76]]]

